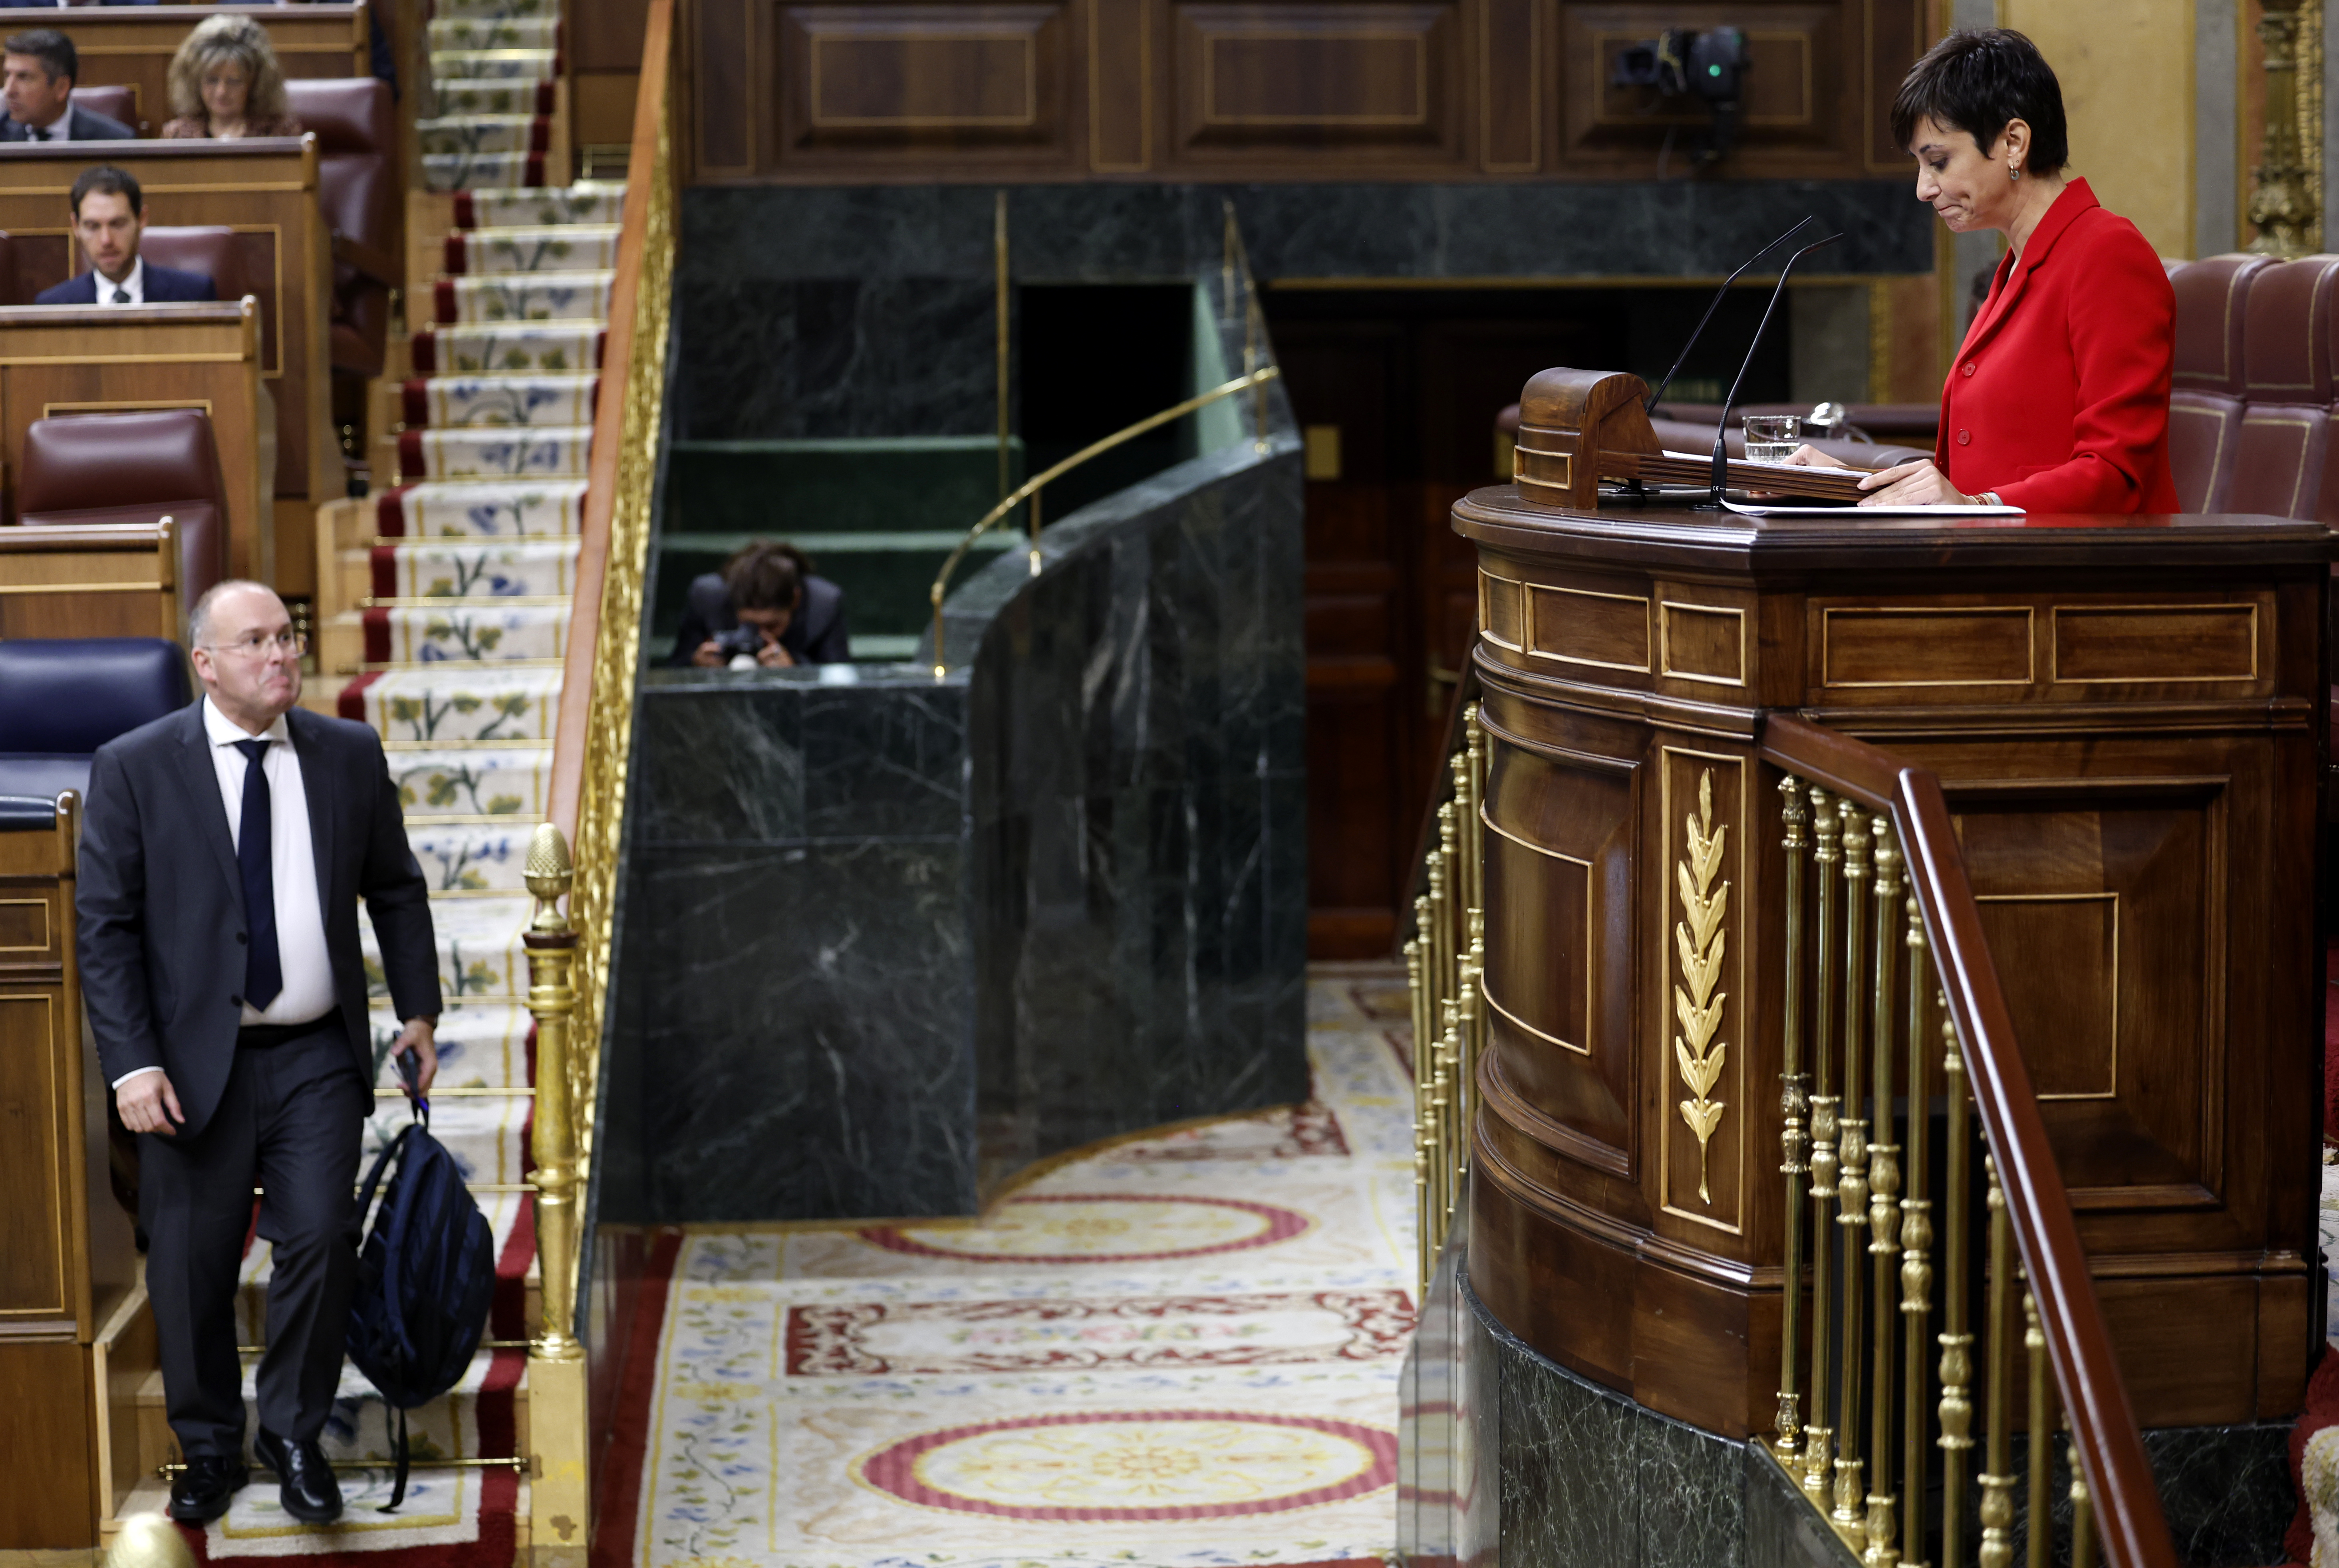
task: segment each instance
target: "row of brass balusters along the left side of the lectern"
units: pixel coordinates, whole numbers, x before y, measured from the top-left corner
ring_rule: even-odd
[[[1478,811],[1485,799],[1485,731],[1478,703],[1462,710],[1446,771],[1453,797],[1436,804],[1436,837],[1422,858],[1427,888],[1413,900],[1413,937],[1406,939],[1415,1302],[1427,1299],[1438,1250],[1469,1196],[1474,1084],[1485,1042],[1485,818]]]

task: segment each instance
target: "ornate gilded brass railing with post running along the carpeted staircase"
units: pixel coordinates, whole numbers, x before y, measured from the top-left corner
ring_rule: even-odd
[[[589,1379],[575,1337],[582,1236],[578,1194],[592,1173],[601,1026],[634,736],[650,500],[671,325],[674,0],[650,0],[634,100],[622,241],[610,287],[603,376],[578,549],[550,820],[529,844],[536,918],[524,937],[536,1019],[536,1253],[543,1330],[529,1348],[531,1540],[538,1561],[585,1561],[592,1521]],[[573,858],[571,858],[573,846]],[[559,907],[568,897],[566,914]]]

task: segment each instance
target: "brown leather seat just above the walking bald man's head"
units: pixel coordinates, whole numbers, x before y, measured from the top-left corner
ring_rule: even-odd
[[[19,523],[178,523],[180,603],[227,575],[227,481],[201,409],[68,414],[23,432]]]

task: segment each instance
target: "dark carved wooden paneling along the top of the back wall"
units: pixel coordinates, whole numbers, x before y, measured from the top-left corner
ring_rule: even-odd
[[[1609,86],[1740,26],[1722,178],[1867,178],[1923,0],[695,0],[690,180],[1689,175],[1700,103]]]

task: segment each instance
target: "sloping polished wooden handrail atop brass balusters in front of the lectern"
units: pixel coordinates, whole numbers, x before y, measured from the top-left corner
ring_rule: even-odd
[[[2175,1542],[2112,1355],[2070,1192],[2047,1143],[2047,1122],[1981,932],[1981,907],[1965,876],[1965,855],[1939,776],[1785,713],[1764,715],[1761,759],[1892,816],[1906,853],[1909,893],[1923,914],[1962,1042],[1974,1105],[1998,1161],[2014,1241],[2037,1299],[2047,1355],[2105,1552],[2121,1568],[2175,1568]],[[2033,1432],[2033,1442],[2040,1439]],[[2033,1498],[2030,1507],[2040,1510],[2042,1500]]]

